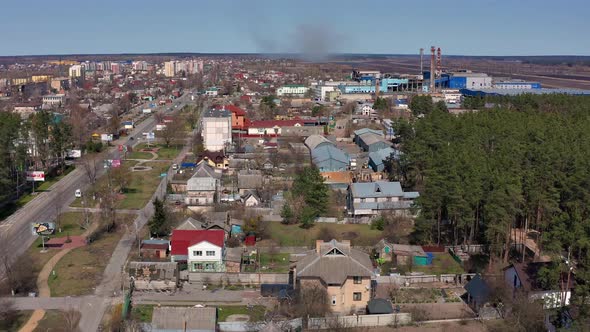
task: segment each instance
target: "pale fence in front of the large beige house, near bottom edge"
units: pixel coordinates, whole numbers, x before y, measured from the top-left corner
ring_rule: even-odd
[[[310,330],[321,330],[328,328],[345,329],[354,327],[406,325],[411,322],[412,316],[409,313],[385,315],[354,315],[330,318],[310,318],[308,320],[307,328]]]

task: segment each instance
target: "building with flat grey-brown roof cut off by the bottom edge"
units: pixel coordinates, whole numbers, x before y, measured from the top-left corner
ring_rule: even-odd
[[[152,332],[215,332],[215,307],[154,307],[149,331]]]

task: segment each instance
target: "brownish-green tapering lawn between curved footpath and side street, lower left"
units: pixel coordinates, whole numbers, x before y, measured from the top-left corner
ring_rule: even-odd
[[[123,223],[133,215],[119,215],[118,230],[103,234],[85,247],[70,251],[55,266],[55,275],[49,276],[51,296],[78,296],[93,292],[102,280],[103,272],[117,243],[125,232]]]

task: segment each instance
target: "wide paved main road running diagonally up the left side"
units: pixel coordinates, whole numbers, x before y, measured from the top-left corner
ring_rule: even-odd
[[[190,101],[189,93],[176,99],[173,105],[178,105],[178,109],[184,107]],[[157,108],[155,111],[165,111],[170,105]],[[136,107],[132,112],[139,112],[143,105]],[[113,142],[108,152],[108,158],[116,159],[119,156],[117,146],[119,144],[137,145],[140,143],[142,133],[152,131],[156,125],[154,116],[142,121],[132,131],[129,137],[122,137]],[[129,140],[135,137],[134,140]],[[97,178],[104,174],[105,169],[100,168],[97,172]],[[76,189],[85,190],[89,186],[89,180],[83,167],[77,166],[75,170],[66,175],[63,179],[51,186],[47,192],[39,193],[32,201],[16,211],[12,216],[3,222],[0,222],[0,241],[7,241],[13,253],[13,258],[23,254],[37,238],[31,233],[31,223],[54,220],[58,211],[66,211],[68,206],[74,200]],[[0,277],[4,274],[3,267],[0,267]]]

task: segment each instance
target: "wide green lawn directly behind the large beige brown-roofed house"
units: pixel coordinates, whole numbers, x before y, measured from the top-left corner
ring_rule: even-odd
[[[381,239],[381,231],[372,230],[364,224],[315,224],[310,229],[299,225],[284,225],[272,222],[269,225],[271,239],[280,246],[313,246],[322,233],[329,233],[336,240],[351,240],[353,245],[373,245]],[[325,229],[325,230],[322,230]]]

